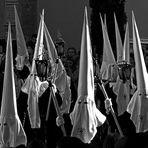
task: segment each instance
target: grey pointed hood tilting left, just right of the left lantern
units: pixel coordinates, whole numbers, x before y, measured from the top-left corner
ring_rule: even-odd
[[[48,55],[51,64],[51,75],[53,76],[53,83],[58,88],[60,95],[63,99],[61,105],[62,112],[69,112],[71,102],[71,89],[70,89],[70,77],[67,75],[61,59],[58,58],[55,44],[49,34],[46,24],[44,24],[45,40],[48,49]],[[58,62],[57,62],[58,60]]]

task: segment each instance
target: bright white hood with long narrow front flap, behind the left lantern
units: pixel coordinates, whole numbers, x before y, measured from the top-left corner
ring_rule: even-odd
[[[40,18],[40,24],[38,29],[37,41],[35,45],[31,73],[26,79],[22,87],[22,90],[28,94],[27,103],[28,103],[28,114],[29,114],[31,128],[40,128],[41,126],[39,107],[38,107],[38,98],[39,98],[40,86],[43,83],[41,83],[39,78],[35,76],[35,74],[37,74],[35,60],[37,58],[42,60],[42,58],[40,57],[42,56],[42,52],[43,52],[43,35],[44,35],[44,10],[42,11],[42,15]],[[45,86],[43,91],[46,88],[47,87]]]

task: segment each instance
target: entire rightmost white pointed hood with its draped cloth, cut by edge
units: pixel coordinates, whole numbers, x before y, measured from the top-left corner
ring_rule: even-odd
[[[148,130],[148,74],[142,52],[138,28],[136,25],[135,16],[133,12],[132,25],[137,91],[131,98],[127,107],[127,111],[131,114],[131,119],[135,124],[136,131],[144,132]]]

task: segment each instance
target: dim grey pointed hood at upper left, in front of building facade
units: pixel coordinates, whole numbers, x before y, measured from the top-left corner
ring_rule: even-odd
[[[16,67],[21,70],[24,66],[25,58],[28,58],[28,51],[26,47],[25,38],[19,21],[16,6],[14,6],[15,12],[15,28],[16,28],[16,41],[17,41],[17,57],[16,57]]]

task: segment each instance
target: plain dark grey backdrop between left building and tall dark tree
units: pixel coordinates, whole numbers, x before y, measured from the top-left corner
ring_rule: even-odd
[[[69,46],[80,48],[85,5],[88,5],[87,0],[39,0],[39,12],[44,8],[52,39],[56,39],[59,30],[66,41],[66,49]]]

